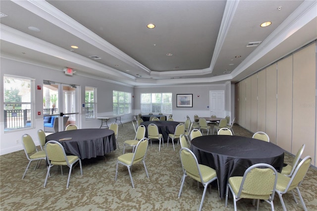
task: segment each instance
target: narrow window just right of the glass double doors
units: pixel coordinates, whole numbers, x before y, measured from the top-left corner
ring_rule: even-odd
[[[95,118],[97,113],[97,88],[85,87],[86,119]]]

